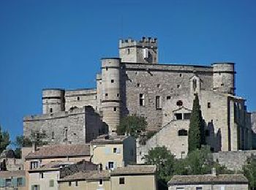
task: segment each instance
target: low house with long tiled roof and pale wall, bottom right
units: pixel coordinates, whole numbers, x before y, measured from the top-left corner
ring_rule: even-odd
[[[242,174],[174,175],[169,190],[248,190],[248,180]]]

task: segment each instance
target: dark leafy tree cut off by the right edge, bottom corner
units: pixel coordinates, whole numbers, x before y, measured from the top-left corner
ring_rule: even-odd
[[[256,189],[256,159],[248,159],[243,167],[244,176],[249,180],[251,189]]]

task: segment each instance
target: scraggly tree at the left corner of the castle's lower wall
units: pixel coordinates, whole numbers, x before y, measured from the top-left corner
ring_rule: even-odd
[[[15,158],[20,159],[21,157],[21,148],[31,147],[33,143],[36,143],[39,146],[47,145],[48,141],[46,140],[47,135],[45,133],[32,132],[29,137],[23,135],[17,136],[15,140]]]

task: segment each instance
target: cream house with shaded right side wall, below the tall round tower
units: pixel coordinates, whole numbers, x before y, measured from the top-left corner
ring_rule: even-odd
[[[113,170],[136,162],[136,140],[130,136],[102,135],[91,141],[91,161]]]

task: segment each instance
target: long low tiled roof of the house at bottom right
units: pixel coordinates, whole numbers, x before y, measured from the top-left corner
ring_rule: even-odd
[[[242,174],[223,174],[223,175],[174,175],[168,185],[186,185],[186,184],[222,184],[222,183],[248,183],[248,180]]]

